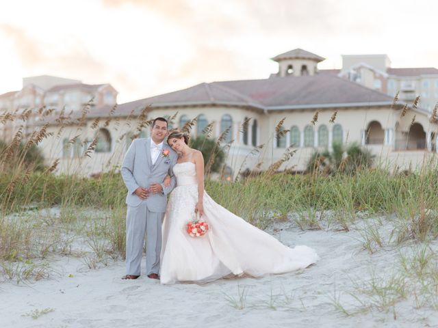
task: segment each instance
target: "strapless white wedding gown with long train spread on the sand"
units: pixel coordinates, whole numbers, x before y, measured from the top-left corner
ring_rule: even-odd
[[[289,248],[270,234],[223,208],[204,191],[203,219],[209,231],[191,237],[187,223],[194,219],[198,184],[192,162],[177,163],[177,187],[170,194],[162,227],[160,281],[211,282],[227,275],[259,277],[304,269],[318,260],[307,246]]]

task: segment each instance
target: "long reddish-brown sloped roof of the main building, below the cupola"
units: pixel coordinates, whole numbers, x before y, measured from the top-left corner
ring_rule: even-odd
[[[193,105],[232,105],[255,109],[294,109],[297,107],[390,104],[392,98],[335,74],[307,77],[275,77],[260,80],[201,83],[184,90],[121,104],[118,113],[140,111],[145,105],[177,107]]]

